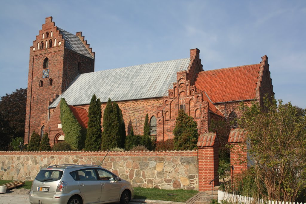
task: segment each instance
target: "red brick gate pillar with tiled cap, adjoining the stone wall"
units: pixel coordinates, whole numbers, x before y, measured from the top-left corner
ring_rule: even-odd
[[[218,176],[219,143],[216,133],[208,132],[198,139],[199,191],[211,190],[209,182]],[[219,185],[219,179],[212,182],[212,187]]]

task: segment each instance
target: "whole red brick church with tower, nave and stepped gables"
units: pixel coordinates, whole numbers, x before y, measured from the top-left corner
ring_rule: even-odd
[[[33,131],[47,132],[51,146],[65,139],[61,98],[84,128],[93,94],[102,102],[102,114],[108,98],[118,103],[127,133],[133,127],[143,134],[148,114],[151,135],[159,141],[174,137],[179,109],[194,118],[201,135],[212,118],[239,117],[240,102],[262,104],[264,95],[274,95],[266,55],[258,64],[208,71],[199,49],[186,57],[95,72],[95,53],[82,32],[69,33],[47,17],[30,47],[24,142]]]

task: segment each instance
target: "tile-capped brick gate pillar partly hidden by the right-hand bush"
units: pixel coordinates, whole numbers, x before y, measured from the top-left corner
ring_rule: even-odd
[[[230,131],[228,142],[230,143],[230,165],[234,169],[231,170],[231,179],[233,184],[235,180],[248,168],[247,147],[245,143],[246,132],[237,128]]]

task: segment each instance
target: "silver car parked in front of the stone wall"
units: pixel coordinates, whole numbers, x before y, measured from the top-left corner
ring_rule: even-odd
[[[29,195],[32,204],[127,204],[133,196],[128,181],[101,166],[72,164],[41,169]]]

